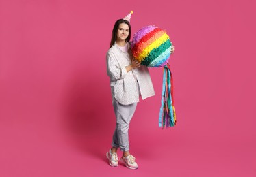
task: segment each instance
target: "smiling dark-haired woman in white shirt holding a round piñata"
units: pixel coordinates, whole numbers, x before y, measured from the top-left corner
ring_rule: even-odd
[[[155,91],[148,68],[132,57],[130,38],[129,21],[117,20],[112,30],[110,49],[107,51],[107,75],[110,76],[112,103],[116,115],[116,129],[107,159],[112,167],[118,166],[119,158],[116,152],[120,148],[123,151],[121,159],[126,167],[137,169],[136,158],[129,152],[129,123],[139,97],[146,99],[155,95]]]

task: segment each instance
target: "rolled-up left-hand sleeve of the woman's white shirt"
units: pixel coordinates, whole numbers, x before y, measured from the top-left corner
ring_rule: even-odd
[[[112,80],[124,78],[127,74],[125,67],[120,67],[114,56],[112,56],[111,53],[107,53],[107,75],[110,76]]]

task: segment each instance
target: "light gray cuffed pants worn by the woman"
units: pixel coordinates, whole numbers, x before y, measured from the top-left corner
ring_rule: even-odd
[[[112,146],[120,148],[120,150],[125,152],[129,150],[129,123],[136,110],[137,103],[123,105],[114,99],[113,106],[116,114],[116,129],[113,135]]]

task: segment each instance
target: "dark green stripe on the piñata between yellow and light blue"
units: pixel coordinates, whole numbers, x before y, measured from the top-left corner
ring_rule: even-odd
[[[149,52],[148,57],[146,57],[141,62],[141,64],[145,65],[145,66],[149,65],[154,59],[157,59],[157,57],[159,57],[159,55],[162,54],[163,51],[170,48],[171,45],[172,44],[170,43],[170,39],[167,39],[166,42],[161,44],[158,48],[153,48],[153,50],[151,50],[151,52]]]

